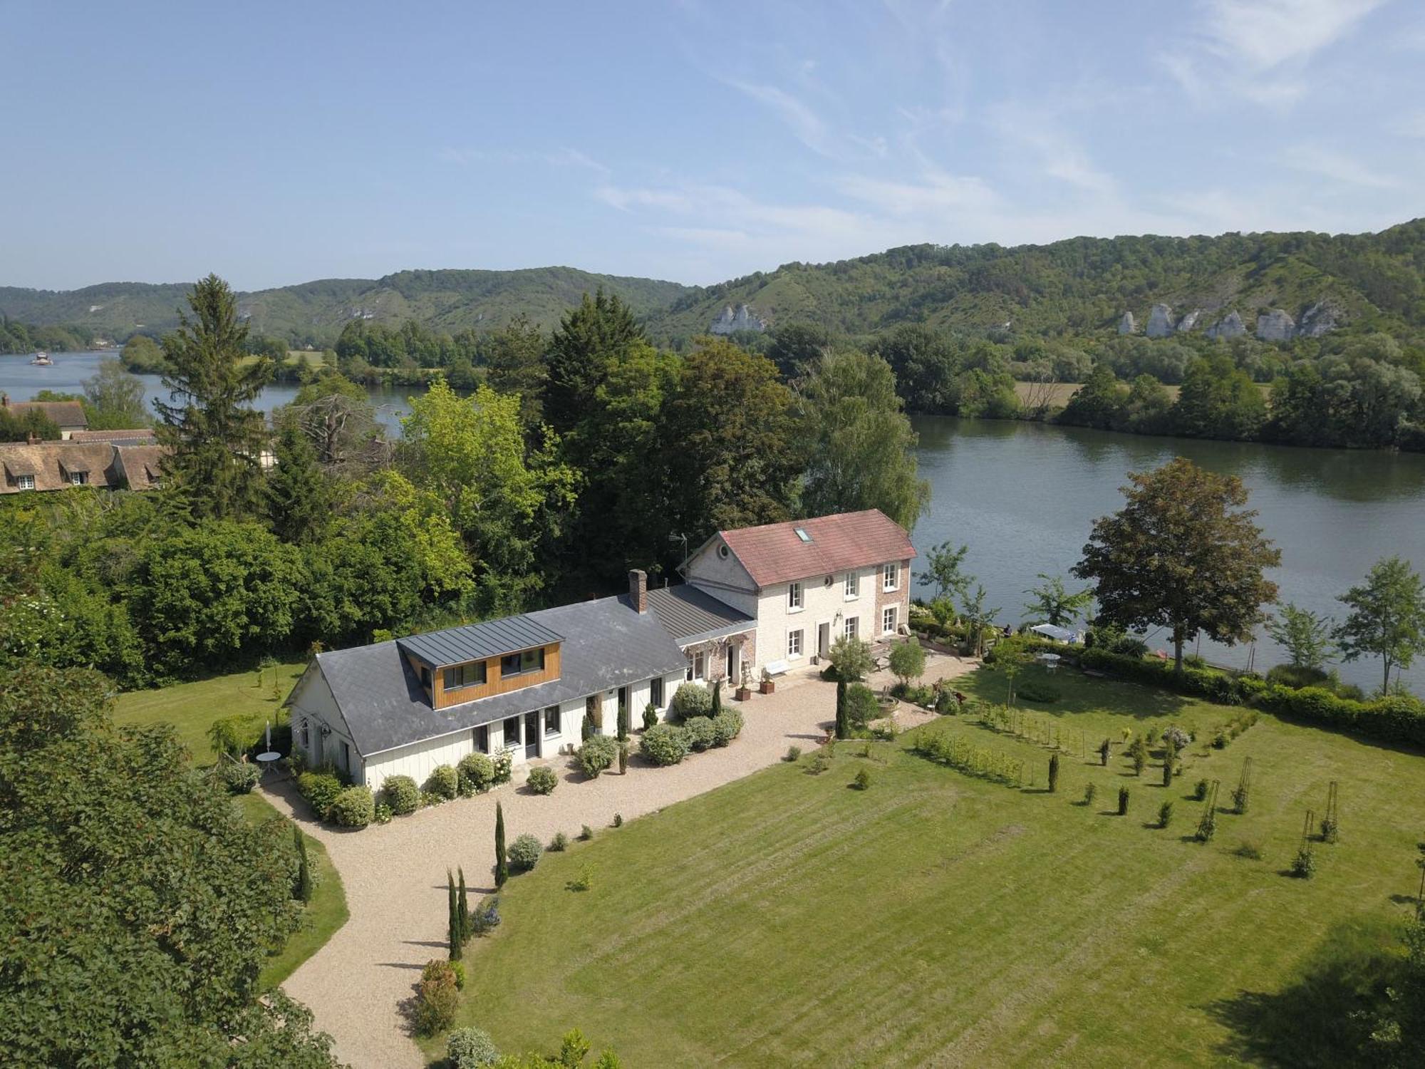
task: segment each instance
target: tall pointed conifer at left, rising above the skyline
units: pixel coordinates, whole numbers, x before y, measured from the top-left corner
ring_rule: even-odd
[[[192,318],[181,314],[164,338],[168,401],[154,402],[158,440],[170,450],[164,469],[195,517],[244,516],[262,492],[265,420],[252,402],[272,378],[272,362],[244,359],[248,328],[217,275],[194,285],[188,306]]]

